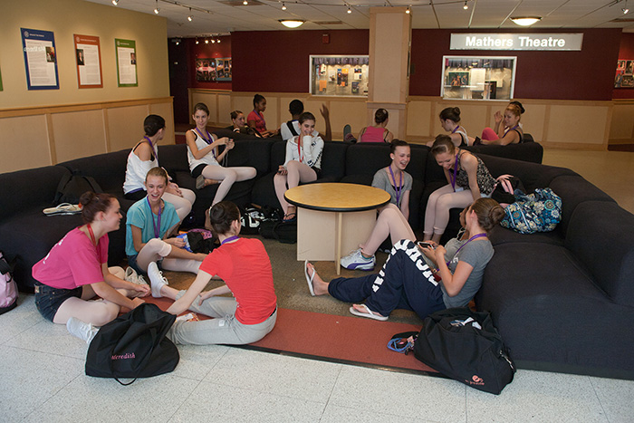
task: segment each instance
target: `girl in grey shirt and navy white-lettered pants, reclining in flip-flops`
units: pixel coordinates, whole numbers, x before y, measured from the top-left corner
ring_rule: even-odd
[[[378,321],[388,320],[389,313],[397,308],[412,310],[424,319],[438,310],[466,306],[480,289],[486,264],[494,254],[488,231],[502,219],[504,210],[494,199],[479,198],[463,215],[467,239],[453,238],[445,246],[433,242],[417,245],[412,239],[401,239],[392,247],[379,274],[340,277],[327,283],[306,262],[311,294],[328,293],[354,303],[352,314]],[[391,222],[404,225],[401,220]],[[365,303],[360,304],[363,300]]]

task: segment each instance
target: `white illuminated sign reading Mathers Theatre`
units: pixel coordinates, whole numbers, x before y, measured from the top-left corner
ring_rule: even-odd
[[[583,34],[451,34],[451,50],[581,50]]]

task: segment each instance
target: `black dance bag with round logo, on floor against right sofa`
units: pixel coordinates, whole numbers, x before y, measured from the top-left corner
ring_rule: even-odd
[[[451,379],[495,395],[515,373],[491,314],[466,307],[427,316],[414,342],[414,355]]]

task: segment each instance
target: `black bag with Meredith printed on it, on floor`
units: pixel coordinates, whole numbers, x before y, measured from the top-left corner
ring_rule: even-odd
[[[86,374],[130,385],[136,378],[174,370],[180,357],[165,335],[175,320],[174,314],[156,304],[143,303],[101,326],[88,348]],[[134,380],[123,383],[119,378]]]

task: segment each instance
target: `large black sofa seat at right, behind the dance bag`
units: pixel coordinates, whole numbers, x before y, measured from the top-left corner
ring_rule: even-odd
[[[634,308],[612,303],[581,261],[559,245],[496,245],[476,307],[515,361],[634,370]]]

